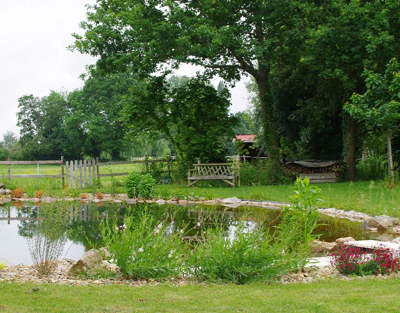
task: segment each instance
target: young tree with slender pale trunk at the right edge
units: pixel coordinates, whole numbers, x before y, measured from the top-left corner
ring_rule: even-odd
[[[392,58],[383,74],[365,69],[362,73],[366,91],[353,93],[343,109],[354,119],[386,136],[387,165],[394,180],[391,137],[400,122],[400,64]]]

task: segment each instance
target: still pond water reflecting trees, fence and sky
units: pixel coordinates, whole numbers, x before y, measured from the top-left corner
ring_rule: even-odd
[[[245,219],[248,225],[255,225],[262,221],[271,230],[279,224],[281,211],[255,208],[237,207],[229,208],[224,206],[176,206],[176,205],[157,205],[157,204],[102,204],[95,203],[54,203],[45,204],[45,207],[20,204],[0,206],[0,262],[7,264],[32,264],[32,259],[28,249],[28,239],[32,237],[33,230],[38,219],[46,220],[46,213],[54,207],[62,207],[65,212],[65,223],[62,224],[62,231],[67,236],[62,258],[78,260],[85,251],[91,248],[89,242],[96,246],[101,246],[101,236],[97,218],[105,214],[115,215],[122,223],[121,217],[126,210],[138,216],[144,206],[154,217],[155,220],[169,218],[173,216],[170,224],[174,229],[179,229],[181,225],[187,224],[190,231],[188,236],[196,235],[194,228],[198,221],[203,221],[205,227],[213,227],[214,221],[221,223],[226,230],[227,236],[235,229],[238,220]],[[47,211],[46,211],[47,210]],[[356,240],[371,239],[370,235],[364,233],[360,228],[360,223],[351,222],[343,219],[321,216],[319,223],[325,224],[315,230],[315,234],[320,235],[320,239],[332,242],[339,237],[351,236]],[[44,226],[46,227],[45,223]],[[53,225],[47,225],[51,228]]]

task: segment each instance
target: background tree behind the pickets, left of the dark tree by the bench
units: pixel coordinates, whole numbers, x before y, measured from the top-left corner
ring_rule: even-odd
[[[125,144],[125,131],[120,120],[121,99],[135,80],[131,71],[102,75],[91,71],[83,87],[69,97],[71,111],[66,123],[70,135],[84,138],[82,150],[85,155],[99,156],[106,152],[118,159]]]

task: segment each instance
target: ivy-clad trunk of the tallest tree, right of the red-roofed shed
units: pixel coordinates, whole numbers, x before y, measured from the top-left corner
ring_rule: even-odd
[[[258,76],[255,79],[255,82],[257,84],[258,95],[261,104],[262,135],[266,145],[266,154],[268,159],[272,160],[274,163],[277,163],[279,161],[277,133],[271,94],[267,85],[266,75]]]

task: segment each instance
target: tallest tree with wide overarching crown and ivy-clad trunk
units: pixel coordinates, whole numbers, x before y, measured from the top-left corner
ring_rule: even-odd
[[[88,6],[84,36],[71,49],[99,56],[105,71],[126,66],[142,73],[168,71],[181,63],[202,66],[233,84],[254,78],[268,154],[277,158],[269,74],[305,29],[306,3],[293,0],[114,0]]]

